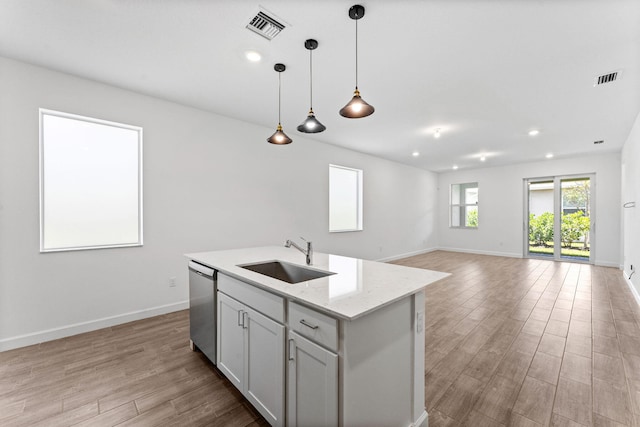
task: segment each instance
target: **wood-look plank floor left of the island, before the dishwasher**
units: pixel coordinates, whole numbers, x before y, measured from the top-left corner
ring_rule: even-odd
[[[187,310],[0,353],[0,426],[267,426],[201,353]]]

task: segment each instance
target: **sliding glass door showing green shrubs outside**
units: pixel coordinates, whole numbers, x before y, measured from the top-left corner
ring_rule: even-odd
[[[525,180],[525,256],[593,262],[593,175]]]

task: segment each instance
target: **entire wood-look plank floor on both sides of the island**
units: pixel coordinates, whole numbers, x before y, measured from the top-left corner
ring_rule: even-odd
[[[613,268],[433,252],[430,427],[640,427],[640,309]],[[264,426],[181,311],[0,353],[1,426]]]

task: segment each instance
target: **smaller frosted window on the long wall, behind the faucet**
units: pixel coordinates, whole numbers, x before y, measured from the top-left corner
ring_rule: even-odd
[[[362,171],[329,165],[329,231],[362,230]]]

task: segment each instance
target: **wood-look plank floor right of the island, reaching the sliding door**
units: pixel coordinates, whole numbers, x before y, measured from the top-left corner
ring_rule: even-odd
[[[618,269],[434,252],[429,426],[640,426],[640,309]]]

